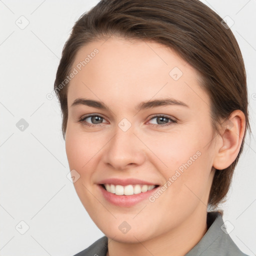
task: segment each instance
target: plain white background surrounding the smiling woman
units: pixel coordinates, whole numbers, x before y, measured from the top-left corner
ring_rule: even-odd
[[[55,96],[46,98],[74,22],[97,2],[0,0],[1,256],[72,256],[103,236],[66,176],[60,107]],[[256,1],[203,2],[234,21],[231,30],[245,62],[255,133]],[[20,29],[15,22],[29,24]],[[29,124],[24,131],[16,127],[21,118]],[[222,205],[224,220],[234,226],[230,236],[248,255],[256,254],[255,144],[253,136],[246,137],[228,200]],[[29,226],[24,234],[17,231],[25,230],[21,220]]]

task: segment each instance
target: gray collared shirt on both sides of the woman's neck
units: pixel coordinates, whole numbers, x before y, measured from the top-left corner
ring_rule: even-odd
[[[208,230],[184,256],[248,256],[240,251],[223,224],[222,216],[218,211],[207,212]],[[74,256],[105,256],[106,252],[107,237],[103,236]]]

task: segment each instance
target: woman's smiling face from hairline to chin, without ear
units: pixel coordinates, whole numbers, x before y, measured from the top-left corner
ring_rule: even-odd
[[[66,153],[101,231],[137,242],[204,214],[216,148],[196,70],[159,43],[111,37],[83,46],[71,71]]]

